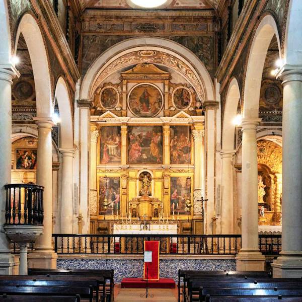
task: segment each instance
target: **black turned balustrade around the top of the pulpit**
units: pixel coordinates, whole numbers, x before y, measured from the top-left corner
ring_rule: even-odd
[[[9,184],[4,187],[6,189],[6,225],[43,225],[44,187],[26,184]]]

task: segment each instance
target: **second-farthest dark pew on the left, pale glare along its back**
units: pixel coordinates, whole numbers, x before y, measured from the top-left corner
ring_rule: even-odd
[[[96,292],[96,300],[101,297],[101,300],[106,298],[105,280],[101,276],[49,276],[49,275],[0,275],[1,285],[11,285],[10,282],[15,282],[12,285],[24,286],[93,286]],[[26,283],[24,283],[26,282]],[[67,282],[67,283],[65,283]]]

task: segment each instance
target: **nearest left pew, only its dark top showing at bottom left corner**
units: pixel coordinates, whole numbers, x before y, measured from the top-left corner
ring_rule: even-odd
[[[0,302],[81,302],[79,295],[75,296],[39,296],[39,295],[0,295]]]

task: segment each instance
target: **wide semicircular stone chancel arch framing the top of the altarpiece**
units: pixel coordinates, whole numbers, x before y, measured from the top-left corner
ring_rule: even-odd
[[[113,45],[102,53],[89,67],[87,73],[85,74],[81,85],[80,99],[89,100],[91,98],[94,82],[96,79],[98,79],[99,75],[102,73],[102,70],[116,60],[117,57],[121,57],[136,50],[150,49],[172,54],[178,60],[183,61],[187,66],[190,67],[192,72],[199,80],[200,85],[202,85],[204,88],[205,100],[215,100],[214,86],[211,77],[199,58],[193,52],[179,43],[168,39],[155,37],[127,39]]]

